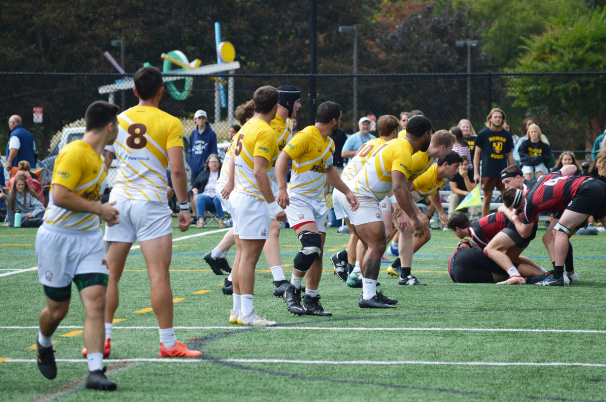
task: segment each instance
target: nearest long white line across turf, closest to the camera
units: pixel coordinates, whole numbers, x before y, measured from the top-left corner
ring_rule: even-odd
[[[67,363],[87,363],[86,359],[57,359],[58,362]],[[395,361],[373,361],[373,360],[286,360],[286,359],[218,359],[218,360],[200,360],[191,358],[133,358],[133,359],[107,359],[105,363],[135,363],[145,361],[150,363],[215,363],[216,361],[224,363],[287,363],[287,364],[331,364],[335,366],[343,364],[367,365],[367,366],[401,366],[405,364],[416,364],[422,366],[581,366],[581,367],[606,367],[602,363],[535,363],[525,361],[416,361],[416,360],[395,360]],[[10,359],[4,363],[35,363],[36,359]]]

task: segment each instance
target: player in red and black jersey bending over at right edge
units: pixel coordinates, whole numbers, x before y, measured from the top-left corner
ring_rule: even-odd
[[[568,255],[568,238],[576,232],[588,216],[606,224],[606,184],[590,176],[568,176],[575,166],[564,166],[560,172],[542,176],[536,185],[524,192],[510,189],[503,202],[513,212],[505,212],[523,238],[530,236],[539,213],[559,212],[562,216],[553,228],[556,261],[553,275],[542,281],[543,286],[564,286],[570,278],[564,275],[564,261]],[[523,207],[524,215],[518,217]]]

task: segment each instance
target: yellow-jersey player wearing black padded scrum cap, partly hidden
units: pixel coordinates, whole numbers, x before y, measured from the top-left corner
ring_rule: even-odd
[[[292,138],[293,127],[290,118],[296,118],[297,110],[301,107],[301,92],[292,85],[280,85],[278,87],[280,100],[278,101],[278,113],[271,120],[270,126],[276,132],[278,138],[278,150],[281,151],[287,142]],[[270,170],[267,172],[270,178],[271,192],[273,196],[278,195],[278,181],[275,173],[276,161],[271,161]],[[284,176],[286,177],[286,176]],[[271,219],[269,237],[265,241],[263,253],[267,264],[270,267],[273,276],[273,295],[282,297],[284,290],[288,286],[288,281],[282,270],[282,261],[280,258],[280,223],[276,219]]]

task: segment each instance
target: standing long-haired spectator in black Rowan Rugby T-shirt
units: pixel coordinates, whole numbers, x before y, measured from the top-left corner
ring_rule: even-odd
[[[511,133],[503,128],[505,112],[494,108],[490,110],[486,118],[486,128],[478,133],[475,142],[475,153],[473,155],[473,181],[480,183],[484,190],[484,204],[482,204],[482,216],[490,213],[490,201],[494,187],[505,192],[505,186],[501,181],[501,170],[513,165],[513,138]],[[480,159],[482,159],[482,176],[480,176]]]

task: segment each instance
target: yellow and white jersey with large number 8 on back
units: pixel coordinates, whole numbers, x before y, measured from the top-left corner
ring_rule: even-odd
[[[112,192],[130,199],[167,203],[168,154],[183,147],[183,124],[157,107],[135,106],[118,115],[118,138],[105,149],[116,154]]]

